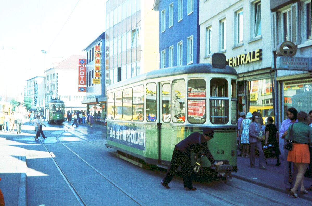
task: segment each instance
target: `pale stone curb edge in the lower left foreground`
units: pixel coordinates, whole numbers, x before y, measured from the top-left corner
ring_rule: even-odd
[[[27,176],[26,176],[26,157],[25,156],[19,156],[19,160],[21,160],[23,163],[23,171],[20,176],[20,181],[19,181],[19,188],[18,188],[18,202],[17,206],[27,206]]]

